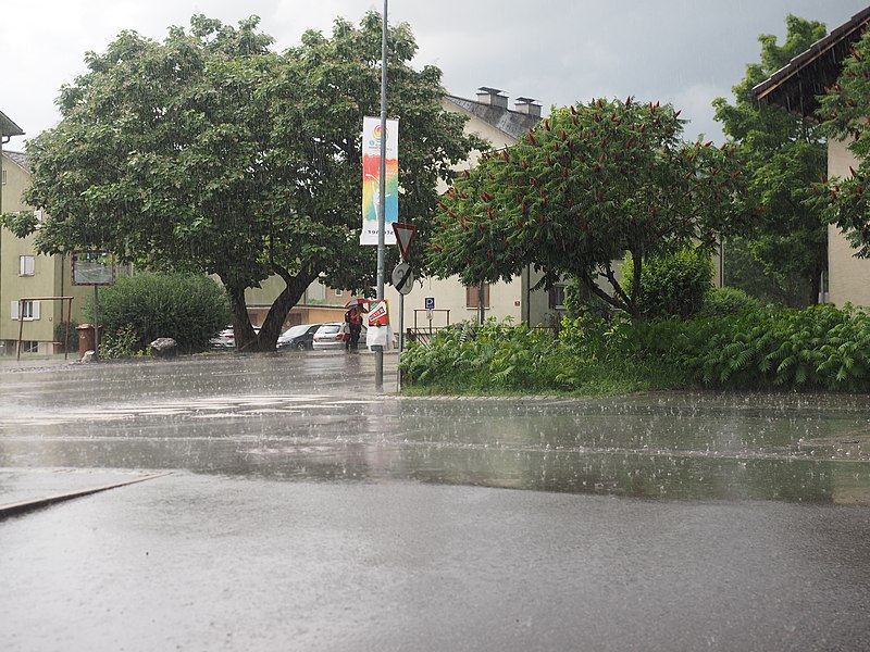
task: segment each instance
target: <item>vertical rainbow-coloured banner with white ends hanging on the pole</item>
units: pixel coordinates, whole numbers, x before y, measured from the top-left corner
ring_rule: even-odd
[[[377,244],[381,193],[381,118],[362,120],[362,233],[360,244]],[[395,244],[391,224],[399,218],[399,121],[387,121],[384,243]]]

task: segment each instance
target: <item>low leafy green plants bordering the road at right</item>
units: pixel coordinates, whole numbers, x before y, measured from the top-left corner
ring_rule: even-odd
[[[728,292],[733,294],[733,292]],[[732,301],[733,299],[733,301]],[[749,301],[750,302],[750,301]],[[870,391],[870,314],[846,305],[739,310],[689,321],[563,323],[558,340],[488,323],[445,329],[402,354],[408,385],[434,392],[624,393],[708,387]]]

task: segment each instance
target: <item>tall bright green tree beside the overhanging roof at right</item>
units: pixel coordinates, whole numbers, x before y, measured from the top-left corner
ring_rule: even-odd
[[[800,303],[815,304],[822,272],[828,268],[828,230],[819,211],[805,200],[825,168],[825,147],[818,121],[757,102],[751,89],[825,35],[824,24],[788,15],[783,45],[776,37],[758,37],[761,57],[746,66],[733,88],[735,102],[713,101],[716,118],[726,136],[743,146],[746,173],[763,212],[746,240],[768,275],[783,290],[788,278],[801,279]],[[725,259],[728,273],[728,259]],[[744,288],[753,291],[751,287]],[[787,292],[780,292],[787,296]]]

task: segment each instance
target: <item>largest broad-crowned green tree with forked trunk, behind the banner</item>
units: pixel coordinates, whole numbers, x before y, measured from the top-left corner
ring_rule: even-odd
[[[61,90],[60,124],[28,143],[27,201],[42,252],[104,248],[122,261],[220,277],[240,348],[272,350],[319,276],[365,291],[375,248],[360,247],[361,127],[381,98],[381,16],[336,20],[283,53],[252,16],[238,28],[194,16],[162,42],[124,32]],[[407,24],[388,30],[389,112],[400,118],[400,220],[430,231],[438,178],[477,141],[440,104],[440,72],[411,67]],[[389,256],[396,255],[388,252]],[[246,288],[285,288],[254,334]]]

